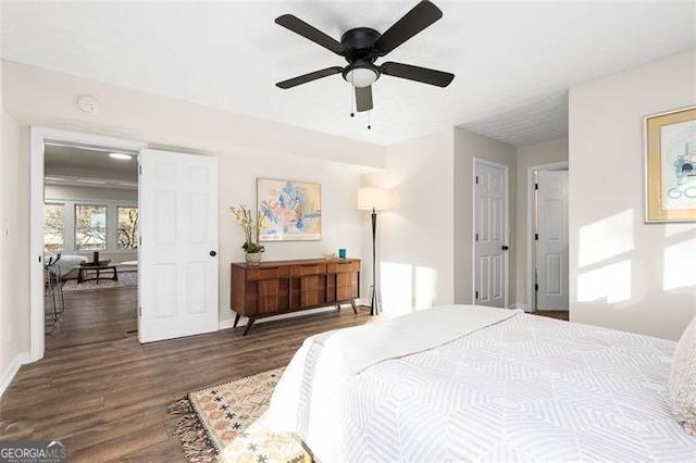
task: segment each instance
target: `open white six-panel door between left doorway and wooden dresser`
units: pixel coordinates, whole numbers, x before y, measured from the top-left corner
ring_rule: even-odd
[[[140,151],[138,336],[217,330],[217,159]]]

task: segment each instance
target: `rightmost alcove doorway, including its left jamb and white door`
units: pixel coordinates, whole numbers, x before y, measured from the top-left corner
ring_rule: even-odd
[[[568,162],[527,168],[527,303],[569,310]]]

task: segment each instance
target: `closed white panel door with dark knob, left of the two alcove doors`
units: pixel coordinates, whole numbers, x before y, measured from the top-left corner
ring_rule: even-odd
[[[507,166],[475,161],[474,302],[505,308],[508,286]]]

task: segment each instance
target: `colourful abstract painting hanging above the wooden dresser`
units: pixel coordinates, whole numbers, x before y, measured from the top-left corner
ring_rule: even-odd
[[[322,237],[320,184],[257,178],[257,207],[263,217],[260,241],[308,241]]]

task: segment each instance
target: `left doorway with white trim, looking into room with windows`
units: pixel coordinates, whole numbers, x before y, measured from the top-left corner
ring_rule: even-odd
[[[129,305],[135,315],[135,287],[132,303],[104,288],[133,280],[128,275],[117,281],[117,272],[137,271],[137,155],[144,146],[32,129],[30,250],[36,259],[30,268],[32,360],[42,358],[46,348],[109,339],[113,328],[109,324],[119,322],[114,308]],[[101,264],[96,266],[104,268],[98,279],[92,268],[80,268],[95,259]],[[123,262],[130,265],[121,266]]]

